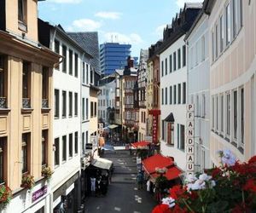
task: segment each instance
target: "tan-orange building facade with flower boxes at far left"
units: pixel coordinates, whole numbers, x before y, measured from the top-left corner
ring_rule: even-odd
[[[52,168],[52,69],[59,55],[38,45],[38,1],[19,3],[0,5],[0,179],[13,191],[7,212],[50,212],[41,171]],[[26,175],[35,181],[30,193],[21,187]]]

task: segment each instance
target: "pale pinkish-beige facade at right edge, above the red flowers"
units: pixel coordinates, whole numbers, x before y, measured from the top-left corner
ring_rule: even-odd
[[[230,149],[241,161],[256,153],[256,2],[209,4],[211,135],[213,164],[218,150]]]

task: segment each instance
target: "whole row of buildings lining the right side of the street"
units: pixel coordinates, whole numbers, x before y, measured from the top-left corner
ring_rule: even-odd
[[[218,165],[219,150],[241,161],[253,156],[255,12],[254,1],[185,3],[163,38],[141,51],[139,65],[128,59],[112,77],[118,138],[152,141],[183,171]]]

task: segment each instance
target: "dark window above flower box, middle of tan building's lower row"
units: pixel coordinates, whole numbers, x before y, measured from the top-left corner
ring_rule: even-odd
[[[21,159],[22,159],[22,174],[28,171],[28,161],[29,161],[29,146],[30,146],[30,133],[22,134],[22,149],[21,149]]]

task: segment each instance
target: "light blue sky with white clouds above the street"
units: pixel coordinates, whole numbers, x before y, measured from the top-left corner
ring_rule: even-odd
[[[100,43],[131,43],[131,55],[139,56],[162,37],[184,2],[201,0],[47,0],[38,3],[38,13],[66,31],[96,31]]]

